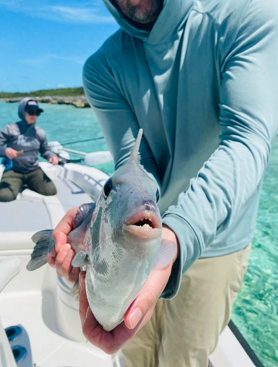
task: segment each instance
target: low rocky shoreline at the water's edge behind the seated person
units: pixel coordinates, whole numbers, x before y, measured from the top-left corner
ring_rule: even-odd
[[[23,97],[13,97],[13,98],[0,98],[1,101],[6,103],[16,103],[19,102]],[[45,97],[36,97],[31,96],[30,98],[34,98],[38,101],[38,103],[49,103],[53,105],[72,105],[77,108],[85,108],[90,107],[85,96],[77,96],[77,97],[60,97],[60,96],[45,96]]]

